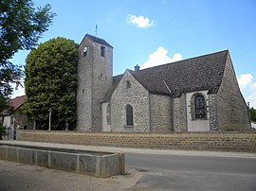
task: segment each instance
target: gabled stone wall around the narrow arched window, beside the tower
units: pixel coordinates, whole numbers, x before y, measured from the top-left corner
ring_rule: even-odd
[[[128,81],[130,87],[127,87]],[[127,104],[133,107],[133,127],[125,126]],[[149,93],[128,71],[111,97],[111,130],[150,131]]]

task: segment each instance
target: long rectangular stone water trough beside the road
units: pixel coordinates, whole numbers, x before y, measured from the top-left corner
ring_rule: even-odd
[[[123,153],[1,144],[0,160],[106,178],[125,171]]]

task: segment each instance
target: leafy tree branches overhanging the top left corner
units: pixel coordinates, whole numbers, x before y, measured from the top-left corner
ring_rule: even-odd
[[[55,13],[50,5],[34,8],[31,0],[0,1],[0,105],[12,93],[10,83],[19,85],[21,66],[9,60],[18,50],[29,50],[37,44]]]

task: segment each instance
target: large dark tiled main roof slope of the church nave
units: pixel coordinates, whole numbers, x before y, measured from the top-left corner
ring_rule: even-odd
[[[152,94],[175,97],[201,90],[214,94],[222,82],[228,55],[225,50],[129,72]]]

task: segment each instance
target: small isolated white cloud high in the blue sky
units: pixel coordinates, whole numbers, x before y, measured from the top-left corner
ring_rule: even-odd
[[[140,28],[148,28],[148,27],[153,26],[155,24],[155,21],[150,21],[150,19],[148,17],[144,17],[141,15],[136,16],[136,15],[128,14],[127,15],[127,23],[129,25],[135,25]]]

